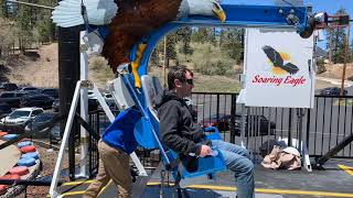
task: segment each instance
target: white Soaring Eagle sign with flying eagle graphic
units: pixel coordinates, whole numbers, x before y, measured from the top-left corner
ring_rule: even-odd
[[[250,29],[245,44],[246,106],[312,108],[313,37],[296,32]]]

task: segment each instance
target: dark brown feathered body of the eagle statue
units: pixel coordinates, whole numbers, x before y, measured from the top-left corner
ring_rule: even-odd
[[[133,44],[176,19],[181,0],[119,0],[116,3],[118,14],[109,24],[109,34],[103,47],[103,55],[114,73],[129,57]]]

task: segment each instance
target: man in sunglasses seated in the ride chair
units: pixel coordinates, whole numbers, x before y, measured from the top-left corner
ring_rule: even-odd
[[[206,140],[202,128],[193,122],[184,97],[190,97],[193,73],[186,67],[172,67],[168,74],[169,90],[158,102],[159,131],[167,147],[178,152],[189,172],[197,169],[197,157],[206,157],[218,150],[227,168],[235,174],[237,197],[254,197],[254,164],[246,148],[221,140]]]

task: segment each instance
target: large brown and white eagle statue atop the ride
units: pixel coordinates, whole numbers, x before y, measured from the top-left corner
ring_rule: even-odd
[[[61,28],[108,25],[103,55],[115,73],[120,64],[130,62],[131,47],[143,36],[190,15],[213,16],[222,22],[226,18],[217,0],[63,0],[55,7],[52,20]]]

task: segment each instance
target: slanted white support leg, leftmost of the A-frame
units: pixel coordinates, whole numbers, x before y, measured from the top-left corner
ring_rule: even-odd
[[[56,161],[51,187],[49,190],[49,194],[51,195],[52,198],[57,197],[57,191],[56,191],[57,180],[58,180],[58,176],[61,173],[65,147],[67,145],[69,132],[71,132],[73,121],[75,118],[76,107],[77,107],[78,97],[79,97],[79,87],[81,87],[81,81],[77,81],[75,92],[74,92],[74,98],[73,98],[73,101],[72,101],[72,105],[69,108],[69,112],[68,112],[68,117],[67,117],[67,121],[66,121],[66,125],[65,125],[64,136],[62,139],[62,144],[60,146],[60,151],[58,151],[58,155],[57,155],[57,161]]]

